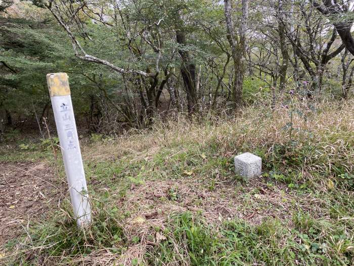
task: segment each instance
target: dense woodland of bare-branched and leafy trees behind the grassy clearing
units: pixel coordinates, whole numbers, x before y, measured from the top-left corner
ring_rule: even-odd
[[[51,121],[45,77],[70,77],[79,127],[144,128],[173,112],[234,113],[347,98],[351,2],[2,3],[2,130]],[[351,51],[351,52],[350,52]]]

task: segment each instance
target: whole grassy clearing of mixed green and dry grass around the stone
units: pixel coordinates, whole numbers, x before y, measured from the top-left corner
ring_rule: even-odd
[[[81,143],[93,224],[78,229],[66,200],[9,241],[3,260],[353,265],[353,103],[258,103],[233,118],[176,115],[149,130],[95,135]],[[233,172],[233,157],[245,151],[262,158],[264,172],[251,181]],[[42,152],[33,146],[31,158]],[[46,160],[64,176],[60,158]]]

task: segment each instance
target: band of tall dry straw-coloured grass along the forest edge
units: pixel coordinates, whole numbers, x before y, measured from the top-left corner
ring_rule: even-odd
[[[314,112],[314,109],[317,111]],[[312,103],[311,107],[308,103],[294,102],[293,110],[292,127],[296,129],[292,131],[293,139],[306,138],[306,132],[312,132],[313,142],[322,143],[329,154],[335,145],[341,148],[348,142],[354,143],[354,100]],[[296,115],[296,110],[301,111],[303,117]],[[106,144],[87,146],[84,148],[84,159],[100,161],[134,154],[135,160],[140,160],[164,147],[188,148],[188,145],[195,143],[208,146],[215,142],[220,153],[238,153],[245,145],[250,149],[260,149],[262,146],[272,146],[272,143],[284,144],[290,139],[290,131],[284,130],[290,123],[289,111],[282,105],[273,111],[269,107],[250,106],[232,118],[207,118],[199,123],[185,115],[176,115],[155,123],[152,129],[133,130],[107,140]],[[336,132],[345,135],[338,137]],[[332,142],[333,137],[338,137],[336,142]],[[348,151],[350,161],[352,154]],[[352,168],[348,170],[352,171]]]

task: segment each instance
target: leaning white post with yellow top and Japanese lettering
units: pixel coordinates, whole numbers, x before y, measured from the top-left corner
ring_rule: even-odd
[[[47,84],[52,100],[74,217],[77,224],[83,226],[91,222],[91,206],[71,103],[68,75],[66,73],[47,74]]]

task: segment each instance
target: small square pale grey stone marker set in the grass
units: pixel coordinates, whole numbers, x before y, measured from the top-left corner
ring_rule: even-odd
[[[235,173],[249,179],[262,173],[262,159],[251,153],[235,156]]]

